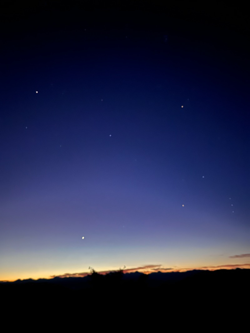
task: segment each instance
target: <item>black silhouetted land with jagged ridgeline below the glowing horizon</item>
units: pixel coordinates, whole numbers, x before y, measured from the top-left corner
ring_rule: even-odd
[[[99,327],[145,320],[158,320],[161,327],[166,320],[171,325],[206,320],[230,326],[247,320],[249,281],[250,270],[239,268],[149,275],[93,272],[83,278],[1,282],[0,294],[3,318],[12,324],[36,318],[36,323],[49,321],[58,328],[82,320]]]

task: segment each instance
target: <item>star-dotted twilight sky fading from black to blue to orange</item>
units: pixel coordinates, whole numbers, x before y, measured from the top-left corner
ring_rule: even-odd
[[[249,268],[244,9],[87,4],[1,10],[0,280]]]

